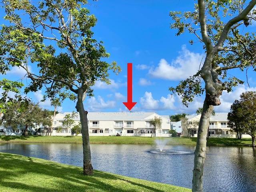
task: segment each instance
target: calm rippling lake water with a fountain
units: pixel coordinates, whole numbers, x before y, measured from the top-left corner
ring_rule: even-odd
[[[92,144],[92,166],[124,176],[192,188],[194,147]],[[0,144],[0,152],[43,158],[82,167],[81,144]],[[256,152],[250,147],[208,147],[205,192],[255,192]]]

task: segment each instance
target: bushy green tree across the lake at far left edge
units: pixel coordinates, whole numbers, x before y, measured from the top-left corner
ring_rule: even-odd
[[[13,103],[3,112],[0,124],[4,127],[11,127],[14,131],[20,126],[25,126],[25,136],[28,136],[28,127],[50,126],[51,115],[50,111],[40,108],[39,104],[30,102],[27,108],[19,111],[20,102],[13,100]]]

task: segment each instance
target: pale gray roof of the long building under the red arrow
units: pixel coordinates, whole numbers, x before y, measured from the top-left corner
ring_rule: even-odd
[[[63,115],[70,114],[70,112],[65,112]],[[154,112],[88,112],[88,120],[102,120],[102,121],[111,121],[111,120],[124,120],[124,121],[141,121],[148,118],[149,116],[156,114]],[[158,115],[158,114],[156,114]],[[164,117],[164,116],[162,116]],[[164,117],[166,118],[166,117]],[[169,118],[168,118],[169,119]],[[78,117],[74,120],[80,120],[79,113]]]

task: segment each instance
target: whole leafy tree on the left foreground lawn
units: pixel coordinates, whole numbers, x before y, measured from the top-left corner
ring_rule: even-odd
[[[84,8],[86,0],[3,0],[6,22],[0,31],[1,67],[5,74],[12,66],[23,68],[31,82],[25,93],[45,88],[45,97],[76,101],[82,125],[83,174],[93,174],[88,112],[83,101],[93,96],[96,80],[110,84],[109,70],[120,72],[116,62],[108,63],[103,42],[93,38],[94,15]],[[31,71],[29,65],[38,71]]]

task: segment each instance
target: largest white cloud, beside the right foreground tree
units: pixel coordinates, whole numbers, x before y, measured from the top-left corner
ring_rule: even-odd
[[[186,46],[182,46],[179,52],[180,56],[169,64],[166,60],[161,59],[156,68],[149,70],[148,74],[153,78],[167,80],[184,80],[189,76],[196,74],[200,68],[200,62],[203,54],[190,52]]]

